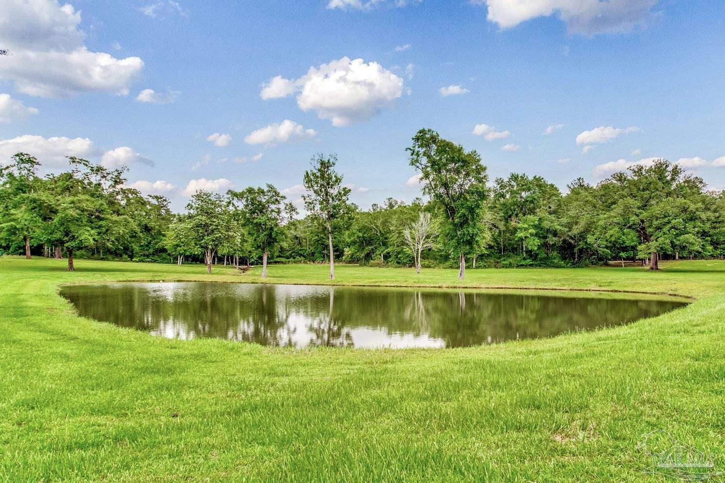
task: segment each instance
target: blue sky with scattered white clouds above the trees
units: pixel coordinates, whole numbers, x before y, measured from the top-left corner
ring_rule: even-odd
[[[432,128],[490,177],[563,191],[663,157],[725,189],[721,0],[3,0],[0,164],[128,167],[183,210],[317,153],[351,199],[410,202]]]

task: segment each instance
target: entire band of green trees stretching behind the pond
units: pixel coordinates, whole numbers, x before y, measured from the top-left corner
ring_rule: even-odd
[[[421,129],[407,148],[426,200],[349,202],[334,155],[305,172],[305,216],[270,184],[225,194],[197,191],[183,213],[125,186],[111,170],[69,157],[70,169],[38,175],[17,153],[0,167],[0,250],[62,257],[205,263],[245,270],[268,262],[485,267],[576,266],[616,260],[649,265],[725,255],[725,195],[679,165],[634,165],[566,193],[541,176],[489,181],[476,151]]]

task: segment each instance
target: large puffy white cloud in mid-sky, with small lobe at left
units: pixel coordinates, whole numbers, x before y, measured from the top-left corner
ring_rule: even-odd
[[[276,99],[295,92],[297,106],[315,111],[332,125],[351,125],[368,120],[403,94],[403,80],[378,62],[343,57],[320,67],[310,67],[301,78],[280,75],[263,84],[260,97]]]

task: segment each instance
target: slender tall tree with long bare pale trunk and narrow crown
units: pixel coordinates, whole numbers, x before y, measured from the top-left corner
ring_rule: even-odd
[[[342,176],[336,170],[337,157],[318,154],[312,158],[312,169],[305,171],[303,178],[306,194],[305,208],[327,231],[330,249],[330,280],[335,278],[335,249],[332,234],[341,220],[351,215],[353,207],[348,199],[350,189],[342,186]]]

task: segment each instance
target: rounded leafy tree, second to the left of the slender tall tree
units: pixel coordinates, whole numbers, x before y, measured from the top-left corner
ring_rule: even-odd
[[[204,253],[207,273],[212,273],[214,256],[228,236],[228,202],[220,194],[199,190],[186,205],[186,212],[186,229],[194,237],[194,247]]]

